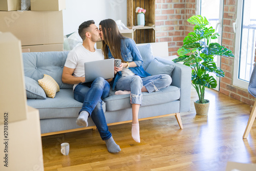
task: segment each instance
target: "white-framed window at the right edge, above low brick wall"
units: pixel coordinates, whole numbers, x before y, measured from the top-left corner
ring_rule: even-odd
[[[237,20],[233,23],[236,32],[233,84],[244,89],[248,88],[255,62],[255,6],[255,0],[238,0]]]

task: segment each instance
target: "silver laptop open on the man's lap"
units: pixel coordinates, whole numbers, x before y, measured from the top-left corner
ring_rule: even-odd
[[[114,58],[84,62],[85,82],[92,82],[98,77],[114,78]]]

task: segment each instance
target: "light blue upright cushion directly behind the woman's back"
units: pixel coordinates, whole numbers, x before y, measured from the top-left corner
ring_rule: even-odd
[[[143,59],[142,67],[144,70],[146,70],[147,66],[150,65],[150,62],[154,59],[151,44],[140,45],[137,47],[138,47],[141,57]]]

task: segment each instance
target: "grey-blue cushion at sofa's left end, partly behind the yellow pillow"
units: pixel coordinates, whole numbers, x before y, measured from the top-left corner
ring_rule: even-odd
[[[39,86],[38,82],[25,76],[27,98],[46,99],[45,91]]]

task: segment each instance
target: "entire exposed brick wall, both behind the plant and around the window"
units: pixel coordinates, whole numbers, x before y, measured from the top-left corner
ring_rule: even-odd
[[[196,14],[196,0],[156,0],[156,42],[168,41],[169,55],[177,55],[177,50],[183,45],[184,37],[191,31],[186,21]],[[237,15],[237,0],[224,0],[222,45],[234,53],[236,34],[232,23]],[[246,89],[235,87],[233,82],[234,59],[222,57],[221,69],[225,77],[220,80],[220,93],[240,100],[244,103],[254,103],[255,98]]]

